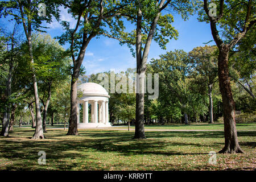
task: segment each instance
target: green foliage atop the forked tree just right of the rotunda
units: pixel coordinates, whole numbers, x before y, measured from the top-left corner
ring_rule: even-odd
[[[171,39],[176,40],[179,35],[177,30],[175,30],[171,24],[174,22],[172,13],[179,13],[183,19],[187,19],[189,15],[193,14],[195,5],[197,4],[197,1],[166,1],[164,3],[167,3],[167,11],[172,11],[172,13],[169,12],[168,14],[164,14],[162,13],[163,9],[159,9],[159,1],[142,0],[128,2],[130,3],[126,5],[126,8],[121,14],[132,24],[137,23],[138,9],[141,9],[142,11],[142,50],[147,42],[151,26],[158,13],[160,13],[160,15],[153,35],[153,40],[159,44],[160,48],[166,49],[166,44],[170,42]],[[135,46],[136,36],[136,29],[119,34],[121,44],[127,43],[127,46],[130,48],[134,57],[135,51],[133,46]]]

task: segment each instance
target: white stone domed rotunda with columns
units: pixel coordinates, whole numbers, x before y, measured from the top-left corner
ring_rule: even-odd
[[[109,122],[109,94],[103,86],[87,82],[77,86],[77,90],[82,92],[82,97],[78,100],[77,128],[88,127],[111,127]],[[80,121],[80,104],[83,105],[82,120]],[[89,121],[89,106],[91,105],[91,119]]]

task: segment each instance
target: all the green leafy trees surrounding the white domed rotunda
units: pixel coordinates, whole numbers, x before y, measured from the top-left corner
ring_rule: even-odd
[[[82,63],[91,40],[105,36],[127,46],[137,61],[136,68],[115,77],[137,73],[136,81],[141,82],[148,73],[159,75],[159,97],[154,100],[143,92],[109,92],[110,122],[135,125],[134,139],[145,139],[144,125],[152,123],[224,122],[225,146],[220,153],[243,152],[236,115],[238,121],[243,120],[239,113],[255,115],[256,2],[212,2],[215,9],[207,0],[1,1],[0,18],[11,27],[11,31],[0,29],[1,135],[7,137],[14,125],[24,121],[35,129],[32,139],[44,139],[47,123],[55,121],[65,127],[68,123],[67,135],[79,135],[77,85],[100,83],[102,74],[86,75]],[[43,16],[38,14],[39,3],[47,5]],[[74,28],[71,22],[60,20],[60,7],[72,15]],[[148,60],[152,41],[166,49],[167,43],[178,38],[172,26],[177,14],[184,20],[197,15],[200,22],[209,23],[216,46],[189,52],[167,50],[158,59]],[[63,28],[56,38],[44,26],[53,18]],[[133,27],[131,31],[127,24]],[[104,72],[109,78],[110,73]]]

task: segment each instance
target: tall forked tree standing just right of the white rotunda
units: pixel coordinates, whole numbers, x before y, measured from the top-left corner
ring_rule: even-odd
[[[177,38],[177,31],[171,26],[174,21],[171,14],[162,15],[162,11],[168,7],[177,10],[183,18],[187,18],[192,13],[194,1],[130,1],[130,6],[126,7],[126,13],[123,13],[132,23],[136,22],[136,30],[133,31],[130,38],[135,38],[135,53],[137,59],[137,83],[142,83],[145,73],[147,57],[150,51],[152,40],[159,43],[160,47],[166,48],[169,39]],[[178,8],[177,8],[178,7]],[[131,39],[131,38],[130,38]],[[128,44],[131,48],[131,45]],[[133,51],[133,48],[131,48]],[[141,91],[139,91],[141,90]],[[136,93],[136,117],[134,139],[146,138],[144,134],[144,85],[137,84]]]

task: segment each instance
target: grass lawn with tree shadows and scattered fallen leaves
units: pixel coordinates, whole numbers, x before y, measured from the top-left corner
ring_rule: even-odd
[[[255,129],[255,123],[241,129]],[[31,140],[33,134],[34,129],[15,127],[10,137],[0,137],[0,170],[256,169],[256,130],[238,131],[244,154],[217,154],[217,164],[208,163],[209,151],[224,146],[223,131],[147,131],[143,140],[131,139],[134,131],[125,130],[79,130],[79,136],[67,136],[67,130],[48,129],[44,140]],[[46,152],[46,165],[38,164],[39,151]]]

